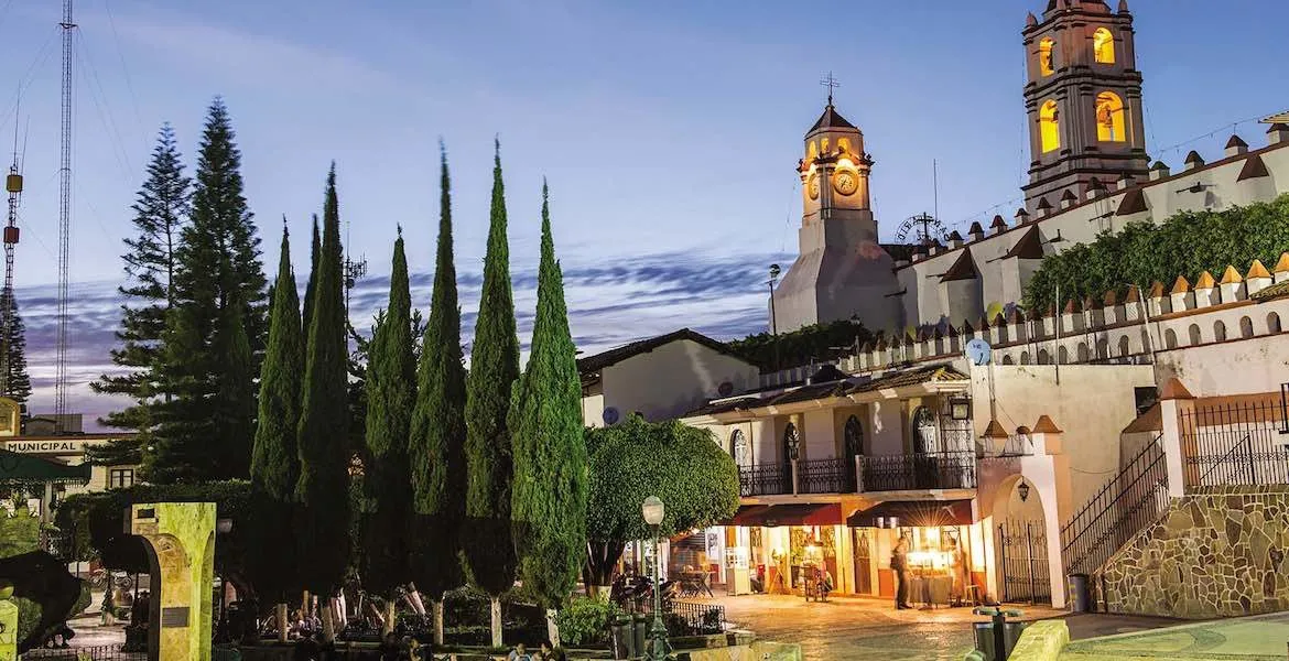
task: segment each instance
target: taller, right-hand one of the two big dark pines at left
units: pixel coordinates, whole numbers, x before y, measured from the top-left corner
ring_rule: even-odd
[[[199,149],[191,222],[175,251],[174,304],[157,369],[164,401],[143,457],[152,482],[247,473],[267,318],[259,238],[240,169],[228,110],[217,98]]]

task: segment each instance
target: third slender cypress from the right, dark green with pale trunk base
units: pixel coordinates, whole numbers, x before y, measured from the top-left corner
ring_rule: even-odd
[[[412,580],[434,600],[436,639],[441,638],[443,593],[464,582],[459,537],[465,517],[465,366],[452,263],[451,182],[442,144],[440,168],[438,251],[410,438],[418,523]]]

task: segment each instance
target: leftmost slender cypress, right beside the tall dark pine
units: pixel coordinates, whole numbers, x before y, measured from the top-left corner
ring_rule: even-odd
[[[300,299],[295,292],[290,250],[284,227],[268,348],[259,376],[259,426],[255,429],[250,466],[251,481],[282,503],[291,500],[300,474],[295,436],[304,378],[304,334],[300,330]]]

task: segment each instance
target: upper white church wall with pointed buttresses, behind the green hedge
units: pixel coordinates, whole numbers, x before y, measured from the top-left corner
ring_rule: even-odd
[[[1133,222],[1163,223],[1179,211],[1271,201],[1285,192],[1289,126],[1276,124],[1258,149],[1232,135],[1212,162],[1191,152],[1177,171],[1155,162],[1145,180],[1124,178],[1043,200],[1034,214],[1018,210],[1011,223],[1002,216],[989,227],[973,223],[965,236],[954,232],[947,245],[923,247],[911,262],[897,262],[898,290],[892,294],[905,326],[956,322],[964,308],[1020,300],[1044,255],[1092,242],[1101,232],[1119,232]]]

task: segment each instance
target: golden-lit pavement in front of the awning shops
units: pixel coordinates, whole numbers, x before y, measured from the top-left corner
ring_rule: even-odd
[[[834,598],[806,603],[800,597],[749,595],[715,599],[726,618],[757,638],[799,643],[806,658],[882,661],[959,661],[974,647],[972,624],[986,621],[971,608],[896,611],[887,599]],[[1074,639],[1138,633],[1176,620],[1106,615],[1069,616],[1065,609],[1013,604],[1021,620],[1065,617]],[[1079,658],[1075,661],[1093,661]]]

